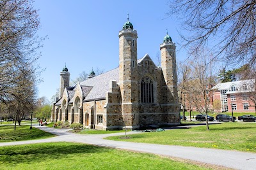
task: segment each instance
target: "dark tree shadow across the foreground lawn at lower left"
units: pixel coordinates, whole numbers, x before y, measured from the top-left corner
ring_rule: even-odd
[[[44,162],[72,157],[72,154],[108,152],[109,148],[79,143],[42,143],[33,145],[4,146],[0,148],[0,162],[19,164]]]

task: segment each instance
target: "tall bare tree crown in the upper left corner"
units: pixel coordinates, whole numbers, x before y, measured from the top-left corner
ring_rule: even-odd
[[[0,2],[0,100],[6,104],[15,98],[13,87],[20,83],[26,67],[29,74],[39,73],[35,66],[42,38],[36,35],[40,28],[37,10],[31,0],[3,0]],[[34,77],[35,78],[35,77]],[[37,81],[38,78],[35,78]]]

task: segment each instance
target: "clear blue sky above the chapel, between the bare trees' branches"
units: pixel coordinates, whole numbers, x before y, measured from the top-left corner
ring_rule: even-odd
[[[35,0],[34,5],[40,10],[42,28],[38,34],[47,36],[38,60],[45,68],[38,97],[49,100],[60,86],[65,63],[71,80],[82,71],[90,73],[92,67],[104,71],[118,67],[118,32],[127,21],[127,13],[138,32],[138,59],[148,53],[156,60],[166,29],[176,45],[180,42],[179,22],[166,15],[168,1]],[[177,60],[185,58],[183,50],[177,52]]]

